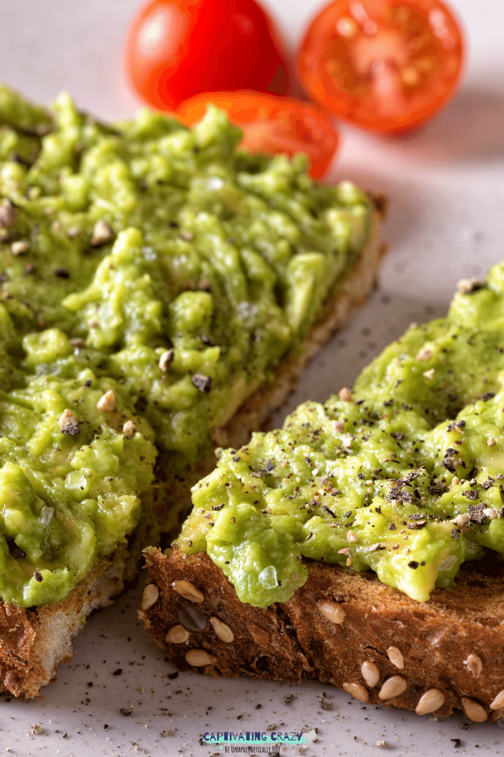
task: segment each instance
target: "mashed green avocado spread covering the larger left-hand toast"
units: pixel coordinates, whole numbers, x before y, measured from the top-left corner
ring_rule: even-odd
[[[49,113],[0,86],[6,602],[62,599],[153,517],[153,491],[169,503],[369,237],[353,185],[317,185],[303,156],[237,151],[240,137],[215,107],[192,130],[147,110],[107,126],[66,94]],[[286,557],[282,529],[242,506]]]

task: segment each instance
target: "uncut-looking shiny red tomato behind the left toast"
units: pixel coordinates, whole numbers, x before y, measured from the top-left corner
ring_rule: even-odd
[[[287,87],[280,36],[255,0],[147,2],[129,27],[125,66],[138,95],[162,110],[197,92]]]

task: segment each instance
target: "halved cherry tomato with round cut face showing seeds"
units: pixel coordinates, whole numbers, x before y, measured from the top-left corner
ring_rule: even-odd
[[[440,0],[335,0],[312,21],[298,73],[332,113],[399,132],[450,98],[462,58],[459,24]]]

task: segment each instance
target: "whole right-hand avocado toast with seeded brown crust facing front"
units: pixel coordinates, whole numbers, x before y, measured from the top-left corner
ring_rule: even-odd
[[[193,488],[141,616],[181,669],[504,708],[504,263]]]

